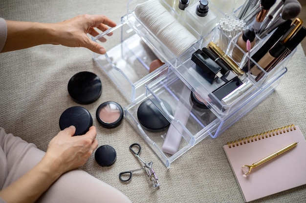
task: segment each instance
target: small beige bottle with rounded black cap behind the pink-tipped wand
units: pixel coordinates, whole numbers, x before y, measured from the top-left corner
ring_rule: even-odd
[[[245,30],[244,33],[238,37],[237,39],[237,46],[239,46],[244,52],[247,52],[246,50],[246,41],[250,40],[251,42],[251,48],[254,47],[255,45],[255,32],[253,30],[253,28],[250,28],[248,30]],[[234,61],[236,61],[237,63],[240,63],[244,53],[241,52],[241,50],[235,46],[232,52],[232,58],[234,59]]]

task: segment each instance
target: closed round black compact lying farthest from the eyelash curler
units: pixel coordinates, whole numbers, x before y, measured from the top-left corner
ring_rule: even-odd
[[[100,78],[91,72],[80,72],[71,77],[68,82],[68,92],[79,104],[90,104],[102,94]]]

